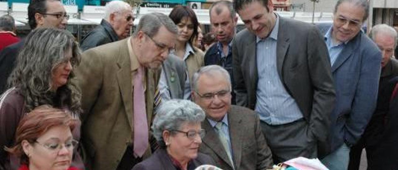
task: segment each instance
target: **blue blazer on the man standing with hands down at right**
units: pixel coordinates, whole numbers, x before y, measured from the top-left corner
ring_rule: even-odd
[[[328,29],[321,29],[323,35]],[[381,52],[359,31],[332,66],[336,105],[331,115],[331,149],[354,145],[372,117],[377,103]]]

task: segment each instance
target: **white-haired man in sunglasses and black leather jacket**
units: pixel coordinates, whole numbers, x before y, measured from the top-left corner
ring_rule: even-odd
[[[108,2],[105,5],[105,17],[101,24],[84,37],[80,47],[85,51],[129,37],[134,19],[133,10],[126,2],[121,0]]]

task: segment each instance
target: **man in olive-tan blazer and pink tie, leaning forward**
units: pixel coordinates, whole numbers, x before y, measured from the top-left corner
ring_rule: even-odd
[[[133,151],[133,136],[137,132],[133,110],[139,107],[133,104],[135,75],[140,68],[145,98],[142,102],[145,107],[141,108],[146,110],[144,124],[149,129],[160,75],[158,68],[174,48],[176,35],[177,27],[169,17],[152,13],[142,16],[130,38],[83,53],[74,81],[82,92],[81,143],[88,169],[131,169],[150,155],[150,147],[142,154]]]

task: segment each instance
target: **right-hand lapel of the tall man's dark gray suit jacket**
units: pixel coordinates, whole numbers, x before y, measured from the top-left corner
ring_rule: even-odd
[[[279,17],[279,16],[278,16]],[[283,82],[283,61],[285,60],[287,49],[289,48],[289,32],[286,30],[285,20],[282,17],[279,17],[279,30],[278,30],[278,38],[277,38],[277,47],[276,47],[276,63],[277,70],[279,74],[279,78]]]

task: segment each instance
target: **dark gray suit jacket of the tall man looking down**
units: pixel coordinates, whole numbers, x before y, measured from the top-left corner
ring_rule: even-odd
[[[232,43],[232,57],[236,103],[254,109],[258,83],[256,35],[247,29],[240,31]],[[319,142],[326,143],[335,91],[328,49],[318,29],[279,16],[276,60],[279,78],[297,102],[309,130]]]

